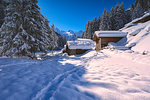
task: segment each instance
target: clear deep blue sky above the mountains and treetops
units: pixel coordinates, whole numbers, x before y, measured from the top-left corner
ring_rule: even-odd
[[[102,15],[117,3],[124,3],[127,9],[135,0],[38,0],[41,12],[61,30],[84,30],[88,20]]]

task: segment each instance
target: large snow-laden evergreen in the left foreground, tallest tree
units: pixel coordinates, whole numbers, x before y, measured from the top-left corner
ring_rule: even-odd
[[[0,34],[4,56],[33,56],[53,47],[49,21],[40,13],[37,0],[11,0]]]

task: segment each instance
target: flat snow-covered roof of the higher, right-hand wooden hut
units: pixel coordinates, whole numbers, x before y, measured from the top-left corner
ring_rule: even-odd
[[[95,31],[97,37],[125,37],[126,32],[121,31]]]

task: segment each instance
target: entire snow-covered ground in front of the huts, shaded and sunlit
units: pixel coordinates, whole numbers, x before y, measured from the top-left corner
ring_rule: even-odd
[[[121,51],[0,58],[1,100],[150,100],[150,55]]]

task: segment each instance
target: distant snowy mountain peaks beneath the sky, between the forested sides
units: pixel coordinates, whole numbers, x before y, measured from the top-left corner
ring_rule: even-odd
[[[78,32],[74,32],[72,30],[63,31],[59,30],[58,28],[55,28],[55,31],[60,34],[62,37],[66,37],[67,40],[75,40],[77,36],[81,37],[82,36],[82,30]]]

